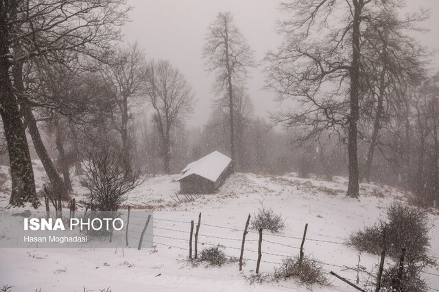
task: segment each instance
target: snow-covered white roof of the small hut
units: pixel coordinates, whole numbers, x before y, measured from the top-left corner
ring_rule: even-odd
[[[209,179],[209,181],[215,182],[230,164],[230,161],[232,161],[232,159],[226,157],[226,155],[218,151],[213,151],[211,154],[189,163],[186,168],[181,171],[182,176],[178,178],[177,181],[191,174],[197,174]]]

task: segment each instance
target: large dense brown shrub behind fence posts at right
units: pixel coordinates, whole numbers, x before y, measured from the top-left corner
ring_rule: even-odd
[[[379,220],[374,226],[356,231],[348,238],[348,243],[359,250],[381,253],[383,228],[386,228],[386,253],[399,258],[401,246],[407,249],[408,262],[435,264],[428,254],[429,222],[427,211],[407,204],[394,203],[387,209],[387,220]]]

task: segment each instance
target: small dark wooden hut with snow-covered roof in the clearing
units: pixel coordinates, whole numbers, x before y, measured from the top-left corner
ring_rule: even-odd
[[[177,181],[183,194],[213,194],[232,172],[232,159],[213,151],[189,163]]]

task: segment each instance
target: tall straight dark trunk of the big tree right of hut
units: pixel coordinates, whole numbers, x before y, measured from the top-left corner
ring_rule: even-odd
[[[353,57],[351,64],[351,92],[350,104],[351,114],[349,116],[349,133],[348,133],[348,160],[349,160],[349,183],[346,196],[351,198],[358,198],[359,196],[359,175],[358,175],[358,157],[357,157],[357,121],[359,118],[359,36],[360,36],[360,22],[361,22],[361,8],[363,8],[363,0],[353,1],[354,19],[353,19],[353,40],[352,49]]]

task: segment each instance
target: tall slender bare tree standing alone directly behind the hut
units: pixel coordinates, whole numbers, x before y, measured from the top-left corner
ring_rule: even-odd
[[[203,47],[203,58],[206,59],[206,70],[215,72],[215,94],[228,94],[230,155],[232,160],[236,161],[233,86],[243,85],[248,68],[254,66],[254,59],[253,51],[250,50],[246,39],[233,24],[230,12],[219,13],[209,27]]]

